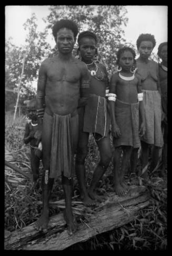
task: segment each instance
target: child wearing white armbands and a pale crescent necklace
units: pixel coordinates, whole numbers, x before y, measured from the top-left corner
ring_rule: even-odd
[[[129,47],[117,52],[118,72],[110,79],[108,100],[112,116],[112,135],[114,151],[114,190],[117,195],[124,196],[128,186],[124,174],[132,148],[140,147],[139,135],[144,135],[144,109],[141,81],[136,70],[136,53]],[[139,130],[140,114],[140,130]],[[123,157],[121,159],[123,153]],[[120,161],[122,167],[120,170]]]

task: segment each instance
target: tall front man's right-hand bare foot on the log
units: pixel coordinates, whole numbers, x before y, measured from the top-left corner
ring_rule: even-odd
[[[76,222],[75,217],[69,213],[70,211],[65,211],[63,212],[64,219],[67,223],[67,228],[68,228],[68,234],[73,235],[77,231],[78,225]]]

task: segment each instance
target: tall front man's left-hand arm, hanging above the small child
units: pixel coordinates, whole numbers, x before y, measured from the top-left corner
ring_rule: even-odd
[[[45,86],[46,86],[46,60],[42,63],[39,74],[38,74],[38,84],[37,84],[37,94],[36,94],[36,109],[38,115],[38,130],[35,133],[36,144],[39,143],[42,136],[42,114],[45,103]]]

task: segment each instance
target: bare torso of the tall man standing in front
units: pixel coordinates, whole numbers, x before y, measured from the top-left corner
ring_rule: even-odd
[[[76,59],[62,62],[57,57],[45,60],[45,105],[59,115],[73,113],[80,97],[81,71]]]

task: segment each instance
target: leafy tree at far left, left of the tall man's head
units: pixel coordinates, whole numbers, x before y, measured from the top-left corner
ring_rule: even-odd
[[[50,45],[46,42],[47,29],[37,32],[37,19],[33,13],[31,19],[24,23],[27,32],[25,45],[17,47],[11,42],[11,38],[5,44],[5,87],[17,91],[17,87],[22,75],[21,86],[19,88],[19,103],[25,99],[33,98],[36,95],[32,84],[37,80],[38,69],[43,59],[47,58],[50,52]],[[24,59],[25,58],[25,59]],[[23,63],[24,61],[24,63]],[[11,98],[13,97],[12,104]],[[6,110],[14,106],[16,94],[6,92]]]

